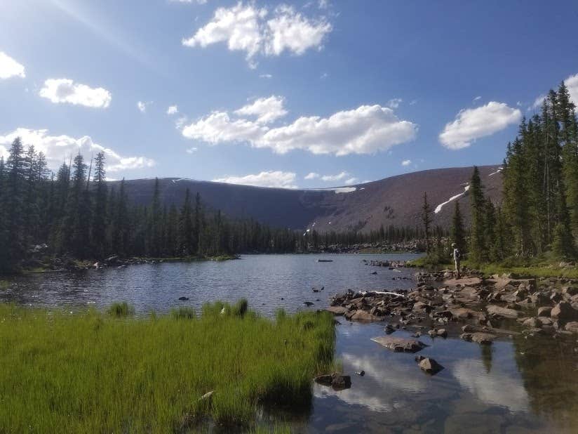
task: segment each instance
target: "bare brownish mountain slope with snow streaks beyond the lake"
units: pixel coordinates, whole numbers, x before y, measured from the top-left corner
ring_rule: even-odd
[[[486,194],[492,202],[502,199],[500,166],[480,166]],[[183,178],[159,179],[164,203],[182,204],[187,188],[209,206],[236,218],[255,218],[276,227],[299,230],[378,230],[380,225],[421,225],[424,192],[436,212],[433,225],[448,228],[455,201],[469,219],[467,183],[471,167],[433,169],[384,178],[371,183],[322,190],[286,190],[248,185],[213,183]],[[110,183],[118,187],[118,181]],[[128,197],[147,204],[154,179],[126,181]]]

